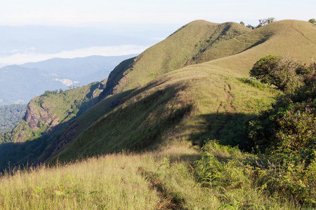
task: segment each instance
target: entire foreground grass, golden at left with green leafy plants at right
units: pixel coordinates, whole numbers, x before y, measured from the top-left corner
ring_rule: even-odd
[[[0,178],[0,209],[300,209],[294,199],[256,186],[246,164],[253,155],[213,141],[204,148],[203,155],[178,143],[157,152],[8,169]],[[206,176],[206,162],[217,177]]]

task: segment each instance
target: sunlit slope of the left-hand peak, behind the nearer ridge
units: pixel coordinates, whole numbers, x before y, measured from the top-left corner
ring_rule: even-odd
[[[145,85],[153,78],[164,73],[180,69],[199,57],[206,48],[212,48],[240,34],[251,31],[235,22],[216,24],[196,20],[184,25],[164,41],[145,50],[135,59],[117,66],[110,73],[107,89],[103,94],[112,94],[131,90]],[[207,61],[239,51],[210,55]]]

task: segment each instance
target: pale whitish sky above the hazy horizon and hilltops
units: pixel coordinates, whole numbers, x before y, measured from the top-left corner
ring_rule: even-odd
[[[100,26],[103,23],[240,22],[316,18],[315,0],[10,0],[0,6],[0,25]]]

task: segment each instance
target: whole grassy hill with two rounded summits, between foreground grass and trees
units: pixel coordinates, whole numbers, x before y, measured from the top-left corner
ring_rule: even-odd
[[[265,55],[289,53],[308,62],[316,52],[315,31],[296,20],[255,30],[232,22],[191,22],[121,62],[98,103],[50,137],[37,150],[37,160],[157,149],[179,141],[195,145],[218,139],[237,145],[244,120],[267,109],[275,95],[239,78]]]

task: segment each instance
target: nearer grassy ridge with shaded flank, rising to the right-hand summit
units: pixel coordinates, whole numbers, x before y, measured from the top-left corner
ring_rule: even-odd
[[[302,32],[298,33],[295,27],[302,28]],[[179,31],[181,30],[183,29]],[[111,95],[91,110],[98,112],[98,109],[110,108],[111,104],[115,109],[107,109],[70,146],[63,148],[59,154],[56,153],[58,155],[55,158],[70,160],[121,149],[157,148],[157,143],[166,139],[180,139],[190,144],[202,144],[206,139],[219,139],[225,144],[237,145],[242,141],[240,131],[244,120],[253,112],[267,109],[275,94],[268,88],[261,90],[246,85],[238,78],[247,77],[254,62],[264,55],[283,55],[282,53],[287,52],[308,61],[310,57],[302,55],[312,56],[316,48],[312,43],[316,33],[312,34],[310,31],[316,31],[316,27],[308,22],[275,22],[238,36],[246,37],[240,40],[249,37],[255,40],[252,47],[243,52],[164,73],[147,85],[121,92],[123,97],[119,99],[119,94]],[[290,44],[291,38],[282,39],[284,33],[301,40],[296,50]],[[225,42],[234,41],[235,38],[232,38]],[[144,53],[143,56],[145,55]],[[126,62],[130,63],[131,60]],[[144,69],[133,69],[130,73],[138,75]],[[127,74],[124,78],[128,78]],[[136,78],[129,79],[138,81]],[[84,122],[87,117],[83,115],[79,120]]]

